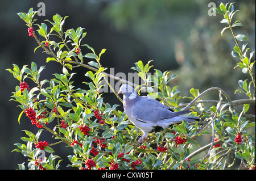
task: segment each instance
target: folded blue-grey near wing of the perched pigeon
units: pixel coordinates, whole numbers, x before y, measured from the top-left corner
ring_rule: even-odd
[[[174,117],[174,112],[155,99],[141,98],[134,103],[133,115],[138,121],[156,123]]]

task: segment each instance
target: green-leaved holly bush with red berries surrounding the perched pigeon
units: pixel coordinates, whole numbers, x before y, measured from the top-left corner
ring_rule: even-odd
[[[255,112],[248,113],[255,106],[254,52],[248,56],[247,44],[239,43],[247,40],[245,35],[234,35],[234,27],[242,24],[232,20],[237,12],[233,3],[221,3],[215,11],[224,16],[221,23],[227,26],[221,35],[229,29],[234,37],[232,56],[238,59],[235,68],[247,76],[238,81],[241,89],[234,91],[243,99],[231,100],[220,87],[210,87],[201,93],[192,88],[191,95],[182,98],[177,86],[168,84],[177,75],[158,69],[149,74],[151,61],[135,62],[132,68],[138,72],[142,85],[127,82],[105,73],[107,68],[100,59],[106,49],[97,54],[88,44],[82,44],[86,36],[84,28],[63,30],[67,16],[56,14],[52,20],[35,24],[36,11],[32,8],[28,13],[18,13],[28,26],[28,35],[38,43],[35,51],[43,49],[48,54],[46,62],[59,62],[63,67],[63,74],[53,73],[51,79],[43,80],[40,74],[45,66],[39,68],[35,62],[22,68],[14,64],[13,69],[7,69],[20,82],[11,96],[22,110],[18,122],[20,117],[27,116],[38,129],[35,133],[24,130],[23,143],[15,144],[17,148],[13,151],[28,157],[28,163],[19,164],[19,169],[59,169],[61,158],[52,149],[57,144],[72,148],[67,155],[70,161],[67,167],[78,169],[255,169]],[[73,85],[76,67],[86,69],[85,76],[90,81],[84,83],[88,89]],[[130,123],[122,108],[118,110],[119,105],[104,102],[104,92],[100,90],[110,86],[122,104],[107,77],[127,82],[139,93],[146,89],[147,96],[175,111],[189,109],[192,116],[202,118],[152,133],[139,144],[142,132]],[[26,79],[34,83],[27,85]],[[216,100],[202,98],[212,91],[219,92]],[[56,141],[48,142],[41,136],[43,131],[52,134]],[[205,136],[211,137],[211,141],[201,146],[197,138]]]

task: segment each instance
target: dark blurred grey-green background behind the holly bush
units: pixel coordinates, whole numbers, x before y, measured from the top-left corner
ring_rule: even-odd
[[[134,72],[130,69],[134,62],[142,60],[145,64],[154,60],[151,63],[154,69],[168,70],[179,75],[171,81],[170,86],[179,86],[183,96],[188,96],[192,87],[204,91],[217,86],[226,91],[232,99],[244,98],[241,94],[234,95],[234,90],[238,89],[238,79],[249,77],[233,69],[239,61],[231,56],[233,37],[228,30],[221,36],[220,32],[224,28],[224,24],[220,23],[222,15],[208,15],[208,3],[216,2],[218,7],[221,1],[1,0],[0,169],[18,169],[18,163],[27,161],[22,154],[11,153],[11,150],[16,148],[16,142],[22,142],[20,137],[26,136],[22,132],[23,129],[32,132],[37,129],[24,115],[20,120],[21,124],[18,124],[21,110],[16,107],[17,103],[9,102],[9,99],[19,82],[5,69],[13,68],[12,64],[22,68],[23,65],[30,65],[31,61],[34,61],[38,66],[46,65],[42,80],[53,78],[52,74],[61,73],[62,69],[56,62],[46,63],[47,55],[42,53],[42,49],[34,53],[36,41],[28,36],[28,27],[16,15],[18,12],[28,12],[30,7],[38,10],[39,2],[45,3],[46,16],[36,15],[36,23],[40,24],[44,19],[52,20],[55,14],[69,16],[65,20],[64,31],[69,28],[85,28],[87,35],[82,44],[89,44],[97,54],[102,48],[106,48],[101,63],[105,67],[115,68],[115,73],[123,72],[127,75],[128,72]],[[248,37],[251,52],[255,50],[255,1],[232,2],[236,2],[236,10],[241,10],[233,19],[244,24],[244,27],[237,27],[235,31]],[[50,27],[49,24],[48,26]],[[36,29],[36,26],[34,28]],[[86,51],[88,50],[82,49],[82,52]],[[82,82],[85,81],[84,74],[87,70],[77,68],[73,71],[77,72],[73,77],[75,86],[86,89]],[[31,83],[27,79],[26,81]],[[104,96],[105,102],[120,104],[113,94]],[[207,96],[208,99],[214,99],[218,92]],[[121,106],[119,108],[122,109]],[[45,135],[47,137],[47,134]],[[64,144],[54,146],[53,149],[64,159],[61,169],[65,169],[69,163],[67,155],[71,154],[72,150],[65,148]]]

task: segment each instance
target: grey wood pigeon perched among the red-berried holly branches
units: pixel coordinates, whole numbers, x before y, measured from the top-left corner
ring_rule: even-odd
[[[198,121],[200,117],[183,116],[191,111],[175,112],[170,107],[147,96],[139,96],[130,85],[122,85],[118,94],[123,94],[123,109],[128,119],[137,128],[141,129],[143,136],[138,142],[143,142],[144,138],[154,132],[155,128],[167,128],[171,124]]]

